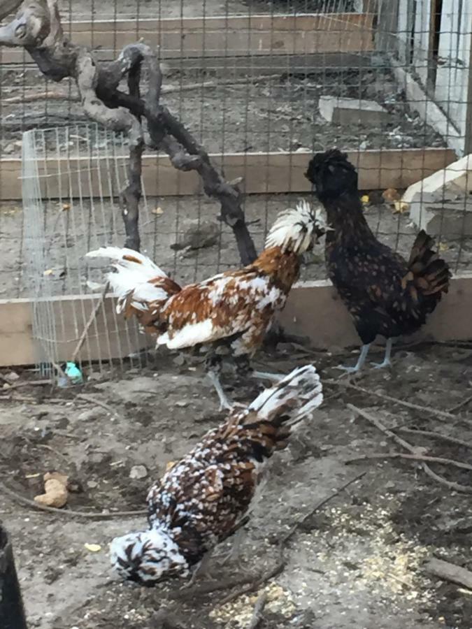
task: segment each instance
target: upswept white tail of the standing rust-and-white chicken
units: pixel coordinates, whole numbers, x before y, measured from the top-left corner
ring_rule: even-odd
[[[136,310],[145,312],[150,305],[166,301],[178,293],[180,286],[147,256],[131,249],[100,247],[87,258],[108,258],[114,270],[107,275],[111,289],[118,297],[117,312],[130,316]]]

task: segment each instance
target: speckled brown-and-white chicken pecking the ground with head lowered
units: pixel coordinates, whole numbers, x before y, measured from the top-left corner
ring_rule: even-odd
[[[188,577],[213,548],[243,526],[267,459],[287,446],[292,427],[322,403],[313,366],[296,368],[166,472],[148,494],[150,528],[117,537],[111,563],[123,579],[152,585]]]

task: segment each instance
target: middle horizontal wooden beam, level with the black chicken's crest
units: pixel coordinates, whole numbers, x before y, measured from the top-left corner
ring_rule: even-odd
[[[227,180],[243,177],[246,194],[308,192],[305,171],[312,153],[228,153],[210,157],[222,168]],[[444,148],[382,149],[348,151],[359,168],[361,189],[407,188],[455,161],[455,152]],[[122,169],[125,159],[119,160]],[[115,164],[106,159],[79,157],[39,159],[41,192],[48,198],[101,196],[109,190]],[[123,171],[123,169],[122,169]],[[0,200],[22,198],[21,159],[0,160]],[[203,194],[201,180],[194,172],[173,168],[166,156],[143,157],[143,182],[148,196]],[[116,189],[116,187],[115,187]]]

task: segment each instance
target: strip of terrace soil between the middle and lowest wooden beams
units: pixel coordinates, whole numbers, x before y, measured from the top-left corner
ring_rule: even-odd
[[[250,195],[245,198],[245,215],[257,250],[262,250],[267,229],[276,215],[293,207],[301,196],[295,194]],[[404,256],[409,255],[415,239],[415,226],[408,213],[394,214],[390,205],[382,202],[380,192],[372,192],[365,215],[373,231],[383,243]],[[66,200],[67,201],[67,200]],[[124,227],[120,208],[109,201],[95,204],[94,219],[90,219],[90,202],[81,205],[70,201],[71,208],[62,211],[62,204],[45,204],[41,210],[44,241],[37,238],[38,224],[24,222],[19,203],[0,204],[0,298],[34,296],[30,277],[41,279],[41,294],[51,296],[90,294],[94,285],[103,282],[103,261],[84,259],[87,251],[106,244],[122,245]],[[159,212],[159,213],[156,213]],[[237,268],[240,259],[233,233],[222,226],[216,216],[219,208],[205,197],[148,198],[141,215],[142,250],[166,273],[178,282],[204,280],[215,273]],[[197,229],[199,245],[193,249],[190,236]],[[194,240],[194,239],[193,239]],[[454,273],[464,273],[472,267],[471,238],[437,239],[441,255],[450,263]],[[178,247],[176,249],[175,247]],[[41,274],[38,273],[38,252],[44,250]],[[44,277],[41,277],[46,273]],[[326,277],[323,245],[315,245],[306,254],[301,280],[323,280]],[[47,291],[47,292],[45,292]]]

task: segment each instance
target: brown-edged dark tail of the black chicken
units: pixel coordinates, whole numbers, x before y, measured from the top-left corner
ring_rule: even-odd
[[[421,293],[425,296],[435,295],[439,299],[441,293],[448,292],[451,273],[448,263],[431,247],[434,247],[434,238],[422,229],[413,244],[408,268]]]

